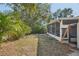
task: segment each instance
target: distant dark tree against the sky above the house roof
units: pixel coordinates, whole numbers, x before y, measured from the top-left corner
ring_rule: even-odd
[[[71,8],[64,8],[63,10],[58,9],[55,13],[53,13],[54,18],[67,17],[68,15],[72,15],[73,10]]]

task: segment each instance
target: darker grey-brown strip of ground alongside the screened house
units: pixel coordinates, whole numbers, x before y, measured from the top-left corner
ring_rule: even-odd
[[[67,56],[72,48],[67,44],[61,44],[48,35],[38,35],[38,56]]]

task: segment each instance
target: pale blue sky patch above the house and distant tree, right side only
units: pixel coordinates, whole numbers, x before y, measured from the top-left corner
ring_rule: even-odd
[[[54,13],[57,9],[64,9],[64,8],[72,8],[73,15],[79,15],[79,4],[78,3],[53,3],[51,5],[51,11]]]

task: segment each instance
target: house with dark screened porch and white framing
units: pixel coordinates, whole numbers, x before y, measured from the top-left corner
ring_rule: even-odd
[[[79,17],[67,17],[51,20],[47,34],[62,43],[73,43],[79,48]]]

